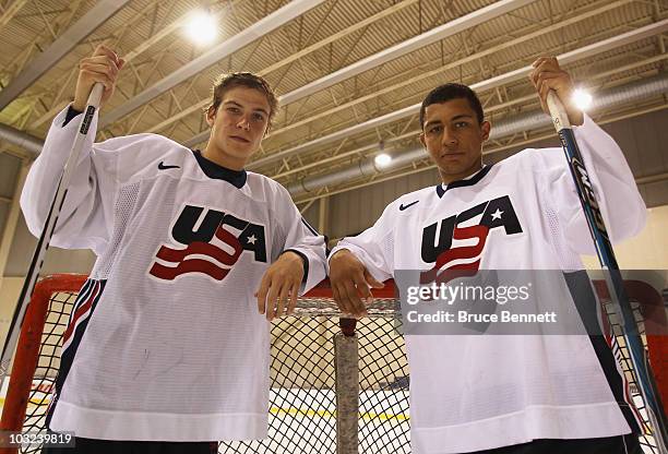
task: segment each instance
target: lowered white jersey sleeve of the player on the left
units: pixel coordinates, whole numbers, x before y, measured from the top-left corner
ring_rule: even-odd
[[[277,212],[277,216],[286,232],[283,251],[295,251],[305,260],[305,278],[299,291],[303,295],[326,277],[325,238],[301,216],[287,190],[281,189],[283,210]]]

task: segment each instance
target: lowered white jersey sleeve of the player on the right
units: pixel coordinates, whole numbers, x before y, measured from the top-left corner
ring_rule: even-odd
[[[396,203],[385,207],[381,217],[361,234],[345,237],[330,256],[342,249],[347,249],[365,265],[378,282],[391,278],[394,274],[394,225],[393,216]]]

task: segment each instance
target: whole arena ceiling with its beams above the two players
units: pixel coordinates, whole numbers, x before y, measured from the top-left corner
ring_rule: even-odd
[[[218,19],[218,38],[205,47],[183,35],[198,7]],[[596,98],[665,75],[667,41],[668,0],[0,0],[0,123],[43,141],[73,95],[79,60],[104,43],[128,63],[98,140],[155,132],[203,147],[212,80],[252,71],[282,107],[249,168],[301,188],[380,150],[398,156],[417,147],[415,106],[440,83],[473,85],[492,124],[502,123],[539,108],[526,77],[538,56],[562,56]],[[664,91],[593,115],[607,122],[667,106]],[[486,151],[550,134],[549,124],[529,128]],[[35,156],[7,139],[0,150]],[[418,158],[351,172],[294,196],[305,207],[429,166]]]

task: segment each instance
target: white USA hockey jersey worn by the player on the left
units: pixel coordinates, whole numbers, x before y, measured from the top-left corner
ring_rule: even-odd
[[[36,236],[79,123],[64,119],[55,118],[21,196]],[[265,438],[270,323],[253,294],[288,249],[308,262],[302,290],[322,280],[324,238],[262,175],[217,167],[234,178],[210,178],[201,156],[155,134],[92,142],[51,240],[90,248],[97,261],[64,334],[50,429],[105,440]]]

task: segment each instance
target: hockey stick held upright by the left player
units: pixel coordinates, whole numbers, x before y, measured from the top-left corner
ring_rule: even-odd
[[[79,132],[76,133],[74,144],[72,145],[72,151],[70,152],[70,156],[65,162],[60,180],[58,181],[56,195],[51,201],[51,206],[44,224],[44,229],[41,230],[41,235],[37,241],[37,246],[35,247],[33,260],[23,283],[23,288],[21,289],[19,303],[14,310],[14,315],[12,316],[9,334],[4,339],[4,346],[2,347],[2,357],[0,358],[0,384],[4,382],[4,379],[9,373],[10,361],[12,360],[14,348],[16,347],[16,343],[19,340],[21,325],[23,325],[23,318],[25,316],[25,311],[28,302],[31,301],[31,297],[33,296],[35,284],[39,277],[39,272],[41,271],[46,251],[49,249],[49,242],[51,241],[51,236],[53,235],[53,229],[56,228],[56,223],[58,222],[58,215],[60,214],[62,203],[68,193],[68,187],[70,186],[72,174],[74,172],[74,168],[79,162],[79,156],[81,155],[84,142],[88,134],[88,129],[93,122],[93,115],[99,107],[103,91],[104,85],[100,83],[96,83],[91,91],[91,95],[86,101],[86,108],[84,109],[84,115],[81,118]]]

